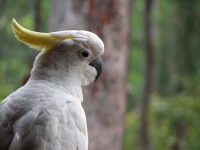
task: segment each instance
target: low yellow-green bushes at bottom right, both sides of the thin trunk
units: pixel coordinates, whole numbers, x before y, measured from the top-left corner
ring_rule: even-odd
[[[150,139],[154,150],[173,150],[179,142],[184,149],[199,150],[200,95],[186,93],[173,97],[154,95],[150,106]],[[123,150],[136,150],[139,129],[138,109],[126,114]]]

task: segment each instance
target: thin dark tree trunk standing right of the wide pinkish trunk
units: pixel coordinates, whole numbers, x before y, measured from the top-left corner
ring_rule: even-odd
[[[145,45],[145,72],[144,72],[144,88],[141,99],[140,108],[140,129],[139,129],[139,149],[149,150],[151,149],[151,144],[148,136],[148,113],[149,113],[149,103],[151,99],[151,94],[153,91],[153,81],[154,81],[154,48],[153,48],[153,36],[152,36],[152,3],[153,0],[146,0],[145,2],[145,35],[144,35],[144,45]]]

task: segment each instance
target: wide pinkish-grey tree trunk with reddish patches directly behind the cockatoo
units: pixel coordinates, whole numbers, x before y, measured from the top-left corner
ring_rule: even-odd
[[[102,76],[83,90],[90,150],[121,149],[126,105],[128,8],[128,0],[51,0],[51,31],[90,30],[105,43]]]

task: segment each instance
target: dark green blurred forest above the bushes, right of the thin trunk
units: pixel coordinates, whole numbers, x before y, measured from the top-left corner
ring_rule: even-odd
[[[199,1],[164,0],[159,4],[155,20],[160,33],[157,90],[167,96],[199,89]]]

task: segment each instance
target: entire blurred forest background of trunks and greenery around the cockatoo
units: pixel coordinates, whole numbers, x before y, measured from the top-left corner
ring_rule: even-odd
[[[84,87],[90,150],[200,149],[200,0],[0,0],[0,100],[26,83],[42,32],[84,29],[105,43]]]

